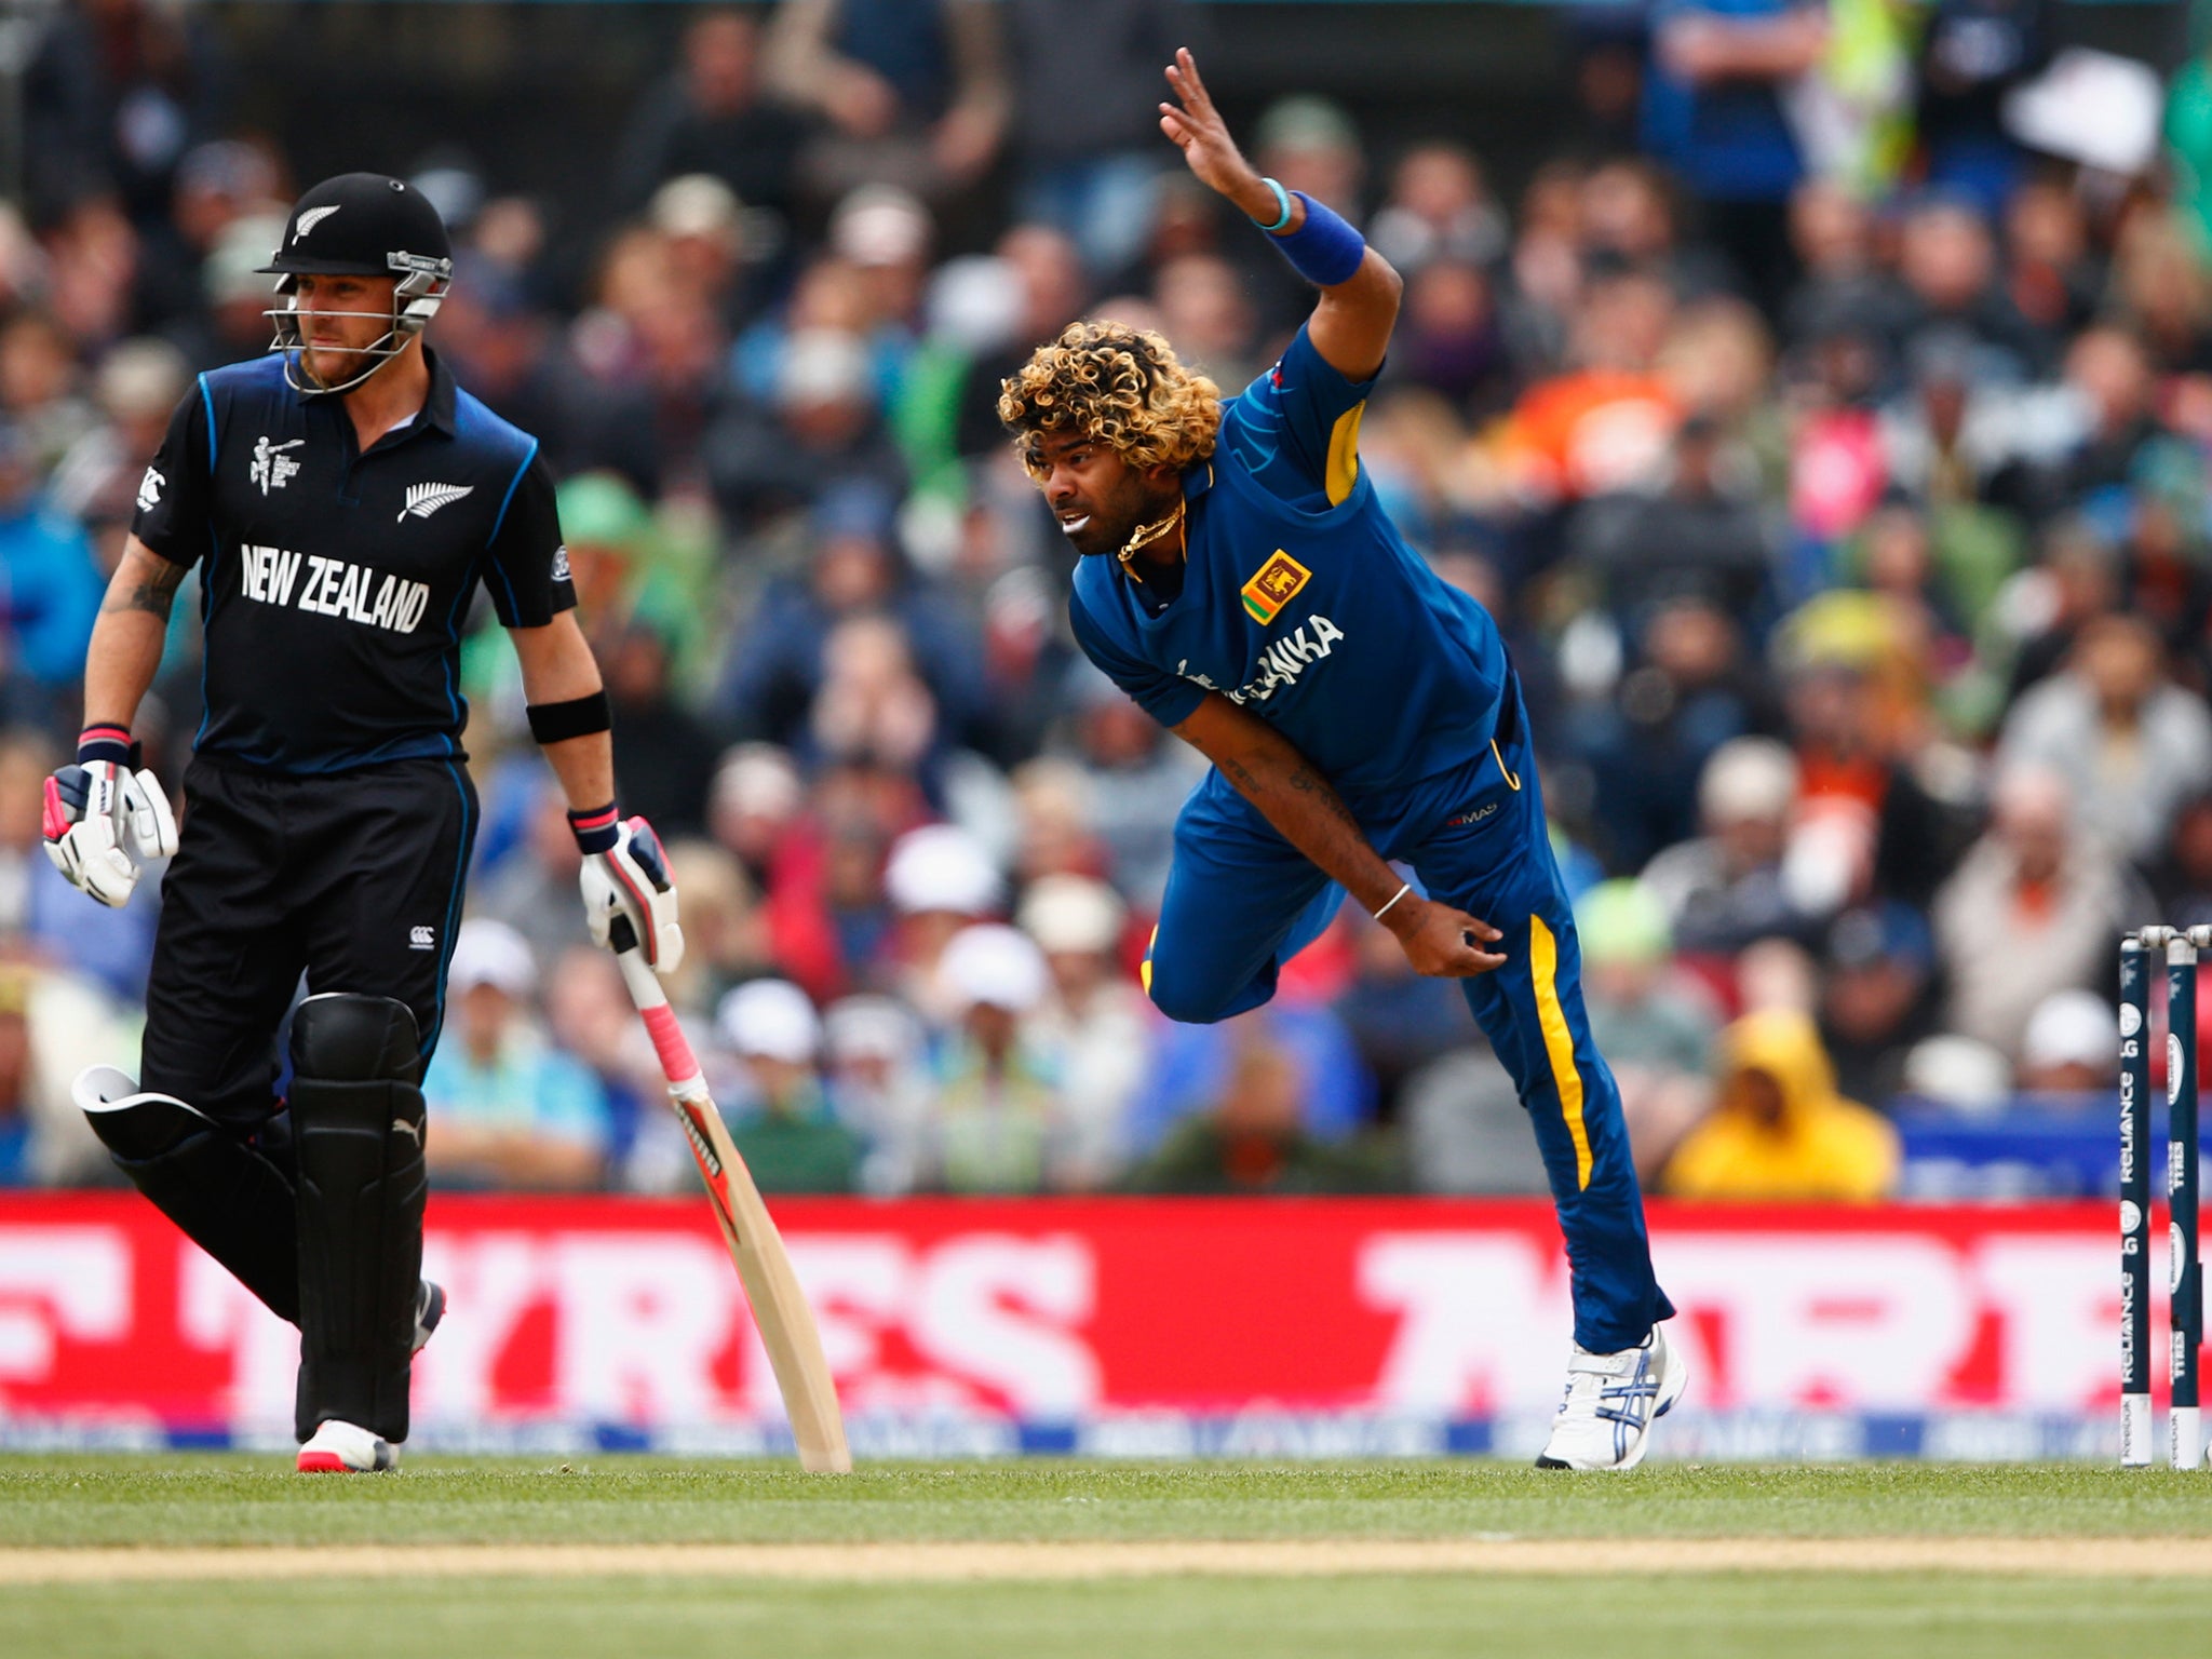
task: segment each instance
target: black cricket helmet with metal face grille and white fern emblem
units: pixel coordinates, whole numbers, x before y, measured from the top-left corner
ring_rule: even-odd
[[[330,312],[323,316],[380,316],[383,338],[363,347],[367,367],[338,385],[314,380],[305,367],[296,299],[268,312],[276,330],[272,352],[285,354],[285,380],[296,392],[352,392],[407,349],[438,314],[453,283],[453,243],[445,219],[420,190],[383,173],[341,173],[292,204],[283,243],[261,270],[279,294],[296,294],[299,276],[394,276],[389,312]]]

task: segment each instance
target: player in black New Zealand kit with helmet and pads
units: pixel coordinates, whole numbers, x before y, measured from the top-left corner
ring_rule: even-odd
[[[615,812],[608,701],[538,440],[422,341],[453,279],[436,208],[376,173],[325,179],[265,270],[272,354],[199,376],[139,484],[44,832],[102,905],[175,854],[142,1075],[93,1068],[77,1104],[139,1192],[299,1325],[299,1469],[372,1471],[396,1464],[411,1356],[445,1312],[420,1279],[420,1082],[476,838],[456,684],[478,582],[586,878],[608,878],[593,933],[628,918],[661,969],[681,933],[653,832]],[[179,836],[131,721],[195,566],[206,719]]]

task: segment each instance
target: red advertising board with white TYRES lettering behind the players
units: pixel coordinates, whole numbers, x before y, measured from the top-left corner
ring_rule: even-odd
[[[1544,1203],[776,1212],[860,1451],[1517,1451],[1564,1376]],[[2104,1447],[2108,1206],[1655,1206],[1652,1237],[1692,1365],[1677,1451]],[[776,1440],[703,1203],[440,1194],[425,1270],[451,1314],[416,1367],[418,1440]],[[0,1442],[276,1440],[294,1356],[142,1201],[0,1199]]]

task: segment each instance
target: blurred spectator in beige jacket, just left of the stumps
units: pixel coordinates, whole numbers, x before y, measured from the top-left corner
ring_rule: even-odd
[[[2150,914],[2121,863],[2075,827],[2075,805],[2057,772],[2006,772],[1989,834],[1936,896],[1944,1029],[2011,1062],[2042,1000],[2101,987],[2119,929]]]

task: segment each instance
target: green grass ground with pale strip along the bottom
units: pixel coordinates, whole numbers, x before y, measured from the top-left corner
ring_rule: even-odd
[[[1345,1571],[1314,1542],[1515,1540],[1553,1564]],[[1608,1573],[1606,1540],[1924,1540],[1929,1571],[1756,1571],[1705,1548],[1699,1571]],[[1953,1571],[1947,1540],[2168,1542],[2168,1575]],[[2108,1540],[2095,1544],[2095,1540]],[[1020,1548],[1307,1544],[1296,1573],[867,1582],[668,1575],[622,1546],[958,1544]],[[1630,1546],[1632,1546],[1630,1544]],[[219,1546],[179,1577],[22,1582],[53,1548]],[[319,1546],[272,1577],[254,1546]],[[434,1575],[349,1571],[345,1546],[436,1546]],[[591,1571],[473,1571],[469,1546],[611,1546]],[[2197,1551],[2203,1551],[2203,1573]],[[869,1555],[854,1551],[854,1559]],[[1628,1546],[1624,1546],[1628,1548]],[[1829,1546],[1820,1546],[1829,1548]],[[1843,1548],[1843,1546],[1838,1546]],[[1916,1548],[1916,1553],[1918,1553]],[[2070,1559],[2073,1546],[2051,1559]],[[993,1553],[995,1551],[995,1553]],[[2119,1555],[2115,1555],[2119,1553]],[[821,1551],[814,1553],[821,1559]],[[1172,1551],[1166,1553],[1172,1562]],[[832,1553],[845,1559],[843,1553]],[[1157,1562],[1161,1551],[1146,1559]],[[84,1557],[93,1562],[95,1557]],[[113,1559],[113,1557],[97,1557]],[[155,1559],[135,1555],[133,1562]],[[365,1557],[354,1557],[365,1559]],[[425,1557],[405,1557],[425,1559]],[[507,1557],[509,1568],[518,1557]],[[566,1557],[562,1557],[566,1559]],[[1349,1557],[1347,1557],[1349,1559]],[[2174,1575],[2172,1562],[2183,1562]],[[13,1568],[13,1579],[9,1577]],[[168,1568],[159,1568],[166,1573]],[[841,1568],[838,1568],[841,1571]],[[1057,1571],[1057,1568],[1053,1568]],[[215,1575],[210,1575],[215,1573]],[[234,1573],[234,1575],[232,1575]],[[891,1464],[818,1480],[750,1462],[630,1458],[409,1462],[400,1475],[292,1475],[281,1458],[0,1455],[0,1655],[1520,1655],[1568,1644],[1728,1657],[2044,1659],[2205,1652],[2212,1473],[2095,1467],[1659,1467],[1559,1478],[1489,1462]]]

